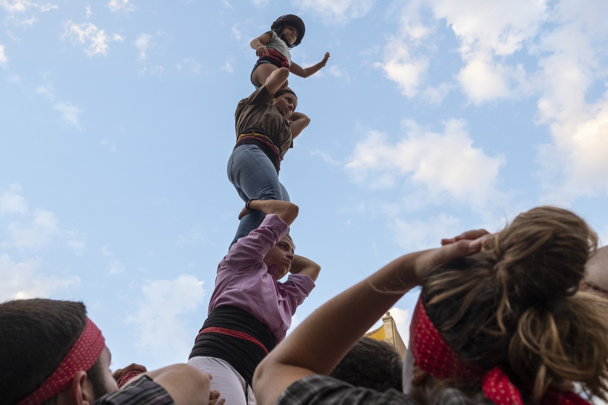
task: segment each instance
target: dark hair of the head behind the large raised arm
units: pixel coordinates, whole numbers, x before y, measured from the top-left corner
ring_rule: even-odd
[[[330,376],[355,387],[384,392],[402,391],[402,362],[399,353],[387,342],[361,338],[344,356]]]

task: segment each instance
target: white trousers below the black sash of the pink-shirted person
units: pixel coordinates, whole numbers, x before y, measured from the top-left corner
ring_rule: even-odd
[[[219,391],[219,398],[226,398],[226,405],[256,404],[251,387],[226,361],[214,357],[196,356],[188,360],[188,364],[213,375],[211,389]],[[245,392],[247,392],[247,401],[245,401]]]

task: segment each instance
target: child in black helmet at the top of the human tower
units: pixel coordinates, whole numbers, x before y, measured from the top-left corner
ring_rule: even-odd
[[[302,19],[293,14],[282,15],[272,23],[271,30],[254,38],[250,45],[255,49],[258,61],[251,71],[251,83],[259,88],[266,83],[271,73],[281,67],[288,67],[291,73],[300,77],[308,77],[318,72],[330,58],[330,53],[325,52],[323,60],[313,66],[302,67],[291,61],[289,49],[298,46],[304,37],[305,26]],[[288,86],[285,81],[283,88]]]

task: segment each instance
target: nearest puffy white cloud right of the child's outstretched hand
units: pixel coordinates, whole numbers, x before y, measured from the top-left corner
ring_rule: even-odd
[[[375,63],[386,77],[396,81],[402,94],[413,97],[418,92],[423,75],[429,67],[425,58],[413,58],[409,47],[399,38],[393,38],[385,47],[384,62]]]

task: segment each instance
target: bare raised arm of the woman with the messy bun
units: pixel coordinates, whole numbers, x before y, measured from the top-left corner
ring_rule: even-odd
[[[474,254],[480,248],[480,240],[460,240],[439,249],[405,255],[323,304],[255,369],[253,388],[258,404],[274,404],[300,378],[328,375],[421,277],[441,263]]]

